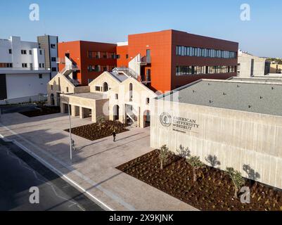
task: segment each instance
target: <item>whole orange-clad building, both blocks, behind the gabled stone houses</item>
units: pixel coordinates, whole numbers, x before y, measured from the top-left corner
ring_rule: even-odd
[[[234,77],[238,63],[237,42],[176,30],[129,34],[128,41],[120,44],[63,42],[58,44],[58,52],[59,58],[68,56],[77,64],[77,80],[82,85],[105,70],[131,70],[138,65],[139,80],[162,93],[202,78]],[[63,70],[64,65],[59,68]]]

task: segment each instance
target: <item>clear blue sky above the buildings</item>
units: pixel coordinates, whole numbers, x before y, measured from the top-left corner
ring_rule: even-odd
[[[29,20],[30,4],[40,20]],[[241,21],[241,4],[251,20]],[[127,34],[182,30],[238,41],[257,56],[282,58],[281,0],[10,0],[0,2],[0,38],[35,41],[41,34],[60,41],[127,41]]]

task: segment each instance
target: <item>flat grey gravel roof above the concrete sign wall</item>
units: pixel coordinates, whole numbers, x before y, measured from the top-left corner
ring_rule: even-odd
[[[200,79],[157,99],[282,116],[282,84]]]

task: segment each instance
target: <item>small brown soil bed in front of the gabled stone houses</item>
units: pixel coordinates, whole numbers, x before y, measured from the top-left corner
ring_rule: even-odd
[[[127,127],[127,125],[122,124],[121,122],[107,120],[101,124],[101,127],[98,123],[94,123],[72,128],[72,134],[81,136],[90,141],[95,141],[113,135],[114,130],[116,134],[129,131],[129,129],[126,129],[125,127]],[[66,129],[65,131],[69,132],[70,129]]]

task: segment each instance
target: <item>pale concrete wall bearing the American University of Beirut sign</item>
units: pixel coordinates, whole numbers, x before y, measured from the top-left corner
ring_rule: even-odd
[[[250,165],[259,173],[258,181],[282,188],[282,117],[162,100],[154,100],[151,107],[152,148],[167,144],[176,153],[183,146],[206,164],[208,155],[216,155],[220,169],[233,167],[246,177],[243,165]],[[160,122],[164,112],[172,120],[190,119],[193,127],[181,129],[174,123],[164,127]]]

